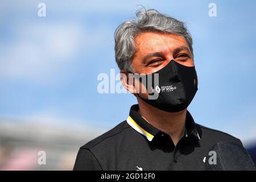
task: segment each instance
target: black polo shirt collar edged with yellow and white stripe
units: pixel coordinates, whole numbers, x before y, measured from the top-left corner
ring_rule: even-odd
[[[127,118],[127,123],[133,129],[144,135],[150,142],[151,140],[158,134],[160,131],[156,127],[150,125],[147,121],[145,121],[141,115],[138,113],[139,105],[133,105],[130,109],[129,117]],[[186,120],[185,120],[186,130],[185,130],[185,137],[189,137],[191,135],[195,135],[197,139],[200,140],[199,133],[196,129],[195,121],[192,118],[192,115],[187,111]]]

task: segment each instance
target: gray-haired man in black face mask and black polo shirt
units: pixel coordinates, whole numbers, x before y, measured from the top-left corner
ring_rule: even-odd
[[[198,81],[183,22],[139,11],[115,31],[115,59],[138,105],[126,121],[80,148],[74,170],[204,170],[217,142],[242,146],[240,139],[196,124],[187,111]]]

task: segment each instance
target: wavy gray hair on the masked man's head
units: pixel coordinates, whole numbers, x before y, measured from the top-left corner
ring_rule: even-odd
[[[126,20],[117,27],[114,33],[115,61],[119,69],[134,71],[131,60],[136,51],[135,37],[143,31],[166,32],[183,36],[187,40],[193,56],[191,34],[183,22],[154,9],[137,11],[136,15],[137,19]]]

